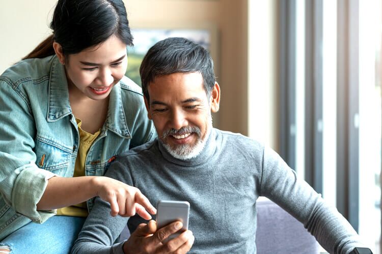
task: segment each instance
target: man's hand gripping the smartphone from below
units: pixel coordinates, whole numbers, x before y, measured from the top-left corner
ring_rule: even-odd
[[[182,228],[182,223],[176,221],[159,230],[156,222],[150,220],[148,224],[140,224],[123,244],[123,251],[128,253],[186,253],[194,244],[195,237],[189,230],[178,237],[162,243],[170,235]]]

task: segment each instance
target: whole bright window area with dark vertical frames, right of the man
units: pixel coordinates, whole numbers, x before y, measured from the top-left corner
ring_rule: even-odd
[[[298,177],[337,207],[373,253],[381,235],[381,2],[249,1],[248,15],[249,96],[263,105],[249,105],[250,135],[266,143],[275,135]],[[256,124],[272,112],[277,120]]]

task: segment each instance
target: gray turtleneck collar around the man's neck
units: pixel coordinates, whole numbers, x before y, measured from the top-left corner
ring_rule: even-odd
[[[162,143],[159,141],[159,138],[158,145],[160,153],[167,161],[185,167],[197,166],[205,163],[214,154],[216,149],[216,133],[215,129],[212,128],[211,132],[207,137],[207,141],[204,145],[203,150],[196,157],[190,158],[189,160],[179,160],[178,158],[173,157],[166,150],[166,148],[163,147]]]

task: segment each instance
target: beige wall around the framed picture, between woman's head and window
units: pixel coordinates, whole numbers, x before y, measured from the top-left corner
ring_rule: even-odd
[[[214,126],[248,134],[247,121],[247,0],[125,0],[131,27],[173,24],[217,28],[214,61],[222,90]]]

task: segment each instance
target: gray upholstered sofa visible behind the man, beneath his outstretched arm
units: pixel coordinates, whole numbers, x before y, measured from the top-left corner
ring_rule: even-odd
[[[316,254],[320,246],[304,225],[272,201],[257,200],[256,246],[258,254]],[[130,236],[127,227],[120,240]]]

